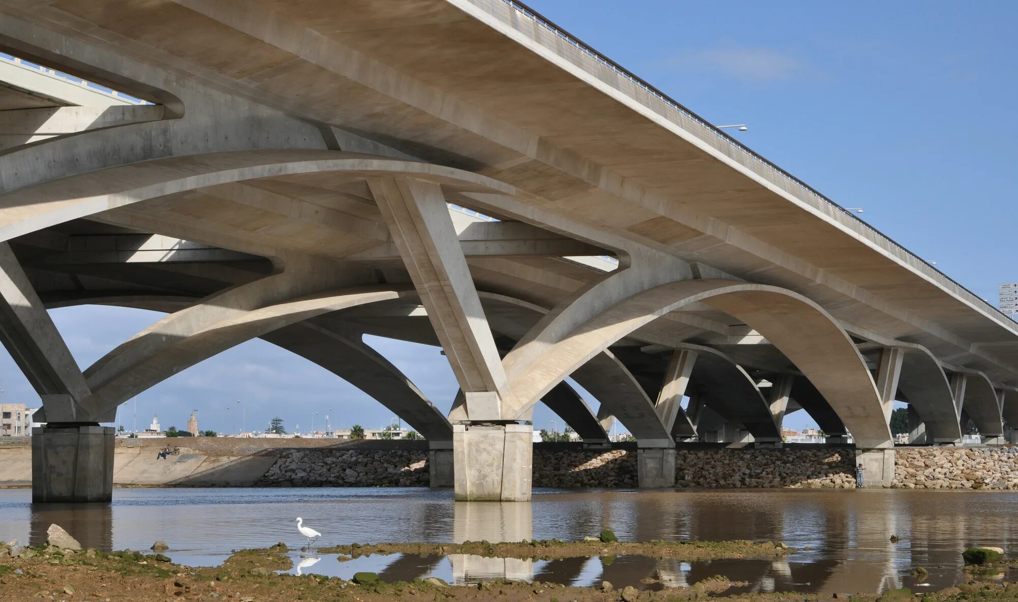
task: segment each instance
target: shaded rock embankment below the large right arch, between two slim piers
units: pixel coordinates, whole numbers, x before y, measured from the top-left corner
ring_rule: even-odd
[[[855,487],[852,449],[678,449],[679,487]]]

